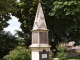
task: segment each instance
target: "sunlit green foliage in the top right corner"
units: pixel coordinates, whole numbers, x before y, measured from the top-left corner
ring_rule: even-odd
[[[63,17],[66,15],[75,15],[80,12],[80,1],[55,1],[53,3],[51,15]],[[76,9],[75,9],[76,8]]]

